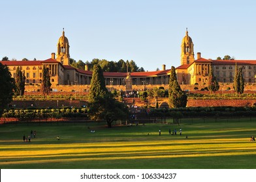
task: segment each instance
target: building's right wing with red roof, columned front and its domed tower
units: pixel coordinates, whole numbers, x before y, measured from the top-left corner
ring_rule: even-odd
[[[234,82],[235,65],[242,67],[243,77],[246,83],[255,83],[256,60],[212,60],[204,59],[201,53],[197,53],[197,59],[193,53],[193,42],[185,33],[182,40],[181,65],[176,68],[177,79],[180,84],[194,85],[195,83],[208,84],[210,67],[214,71],[216,79],[220,83]]]

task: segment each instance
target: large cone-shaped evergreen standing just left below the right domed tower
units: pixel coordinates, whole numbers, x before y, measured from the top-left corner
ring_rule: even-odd
[[[174,66],[170,69],[170,80],[169,80],[169,99],[170,107],[186,107],[187,96],[185,92],[182,91],[180,85],[178,84],[176,72]]]

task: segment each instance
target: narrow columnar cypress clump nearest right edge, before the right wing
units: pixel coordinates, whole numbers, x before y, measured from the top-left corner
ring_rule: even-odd
[[[238,68],[237,64],[234,67],[234,91],[236,93],[244,93],[244,77],[242,74],[242,68]]]

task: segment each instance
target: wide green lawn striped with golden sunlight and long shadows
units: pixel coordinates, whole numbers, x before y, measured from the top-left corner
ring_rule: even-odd
[[[169,128],[180,127],[182,136],[168,135]],[[37,131],[36,138],[23,142],[22,136],[31,130]],[[152,123],[112,129],[96,123],[24,123],[0,125],[0,136],[1,169],[256,168],[256,142],[249,142],[256,136],[256,122]]]

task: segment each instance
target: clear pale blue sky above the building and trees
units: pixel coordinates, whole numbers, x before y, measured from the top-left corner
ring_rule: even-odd
[[[255,0],[3,0],[0,7],[0,59],[49,59],[63,27],[77,61],[177,67],[186,28],[195,58],[256,59]]]

